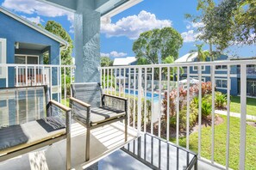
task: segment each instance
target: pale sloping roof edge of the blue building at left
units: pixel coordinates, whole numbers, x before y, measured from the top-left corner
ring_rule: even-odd
[[[47,37],[56,40],[57,42],[59,42],[59,46],[60,47],[68,46],[68,43],[66,42],[66,40],[61,39],[59,36],[57,36],[57,35],[55,35],[53,33],[48,32],[46,29],[35,25],[33,22],[28,21],[25,18],[22,18],[19,15],[15,15],[15,14],[9,12],[9,10],[7,10],[7,9],[3,9],[3,7],[0,7],[0,12],[2,12],[5,15],[9,15],[10,17],[15,19],[16,21],[22,22],[26,26],[33,28],[34,30],[38,31],[39,33],[42,33],[42,34],[46,35]]]

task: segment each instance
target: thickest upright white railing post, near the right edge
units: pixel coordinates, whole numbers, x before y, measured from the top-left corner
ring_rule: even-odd
[[[239,169],[245,169],[247,139],[247,64],[240,64],[240,161]]]

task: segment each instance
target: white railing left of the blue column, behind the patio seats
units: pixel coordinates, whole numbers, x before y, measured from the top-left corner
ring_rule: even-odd
[[[52,98],[56,94],[67,104],[74,71],[74,65],[0,64],[0,88],[47,85]]]

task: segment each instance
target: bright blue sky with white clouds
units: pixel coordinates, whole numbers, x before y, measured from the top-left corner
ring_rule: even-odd
[[[47,21],[59,22],[74,39],[71,12],[40,3],[35,0],[0,0],[5,9],[22,17],[45,25]],[[184,18],[184,14],[198,15],[197,0],[144,0],[134,7],[111,18],[109,24],[101,26],[101,55],[109,58],[133,57],[133,42],[140,33],[153,28],[173,27],[181,33],[184,45],[179,57],[196,50],[197,27],[202,23],[193,23]],[[207,50],[208,46],[204,46]],[[233,46],[227,52],[229,56],[255,57],[256,46]]]

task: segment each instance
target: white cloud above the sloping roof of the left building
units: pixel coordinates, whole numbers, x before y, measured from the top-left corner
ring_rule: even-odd
[[[22,12],[28,15],[37,14],[47,17],[66,15],[67,20],[71,21],[71,23],[73,23],[74,20],[74,14],[72,12],[35,0],[4,0],[2,6],[6,9],[12,9],[16,12]]]

